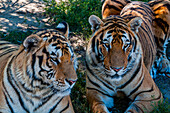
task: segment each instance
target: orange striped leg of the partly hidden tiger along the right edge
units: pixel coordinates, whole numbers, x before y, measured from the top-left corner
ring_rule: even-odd
[[[157,44],[156,68],[160,72],[170,73],[170,62],[166,57],[167,44],[170,43],[170,1],[151,0],[148,2],[154,12],[153,32]]]

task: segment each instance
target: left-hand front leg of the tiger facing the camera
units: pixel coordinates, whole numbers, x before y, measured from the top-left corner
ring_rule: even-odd
[[[107,96],[101,95],[99,92],[88,88],[86,90],[86,95],[93,113],[110,113],[106,104],[113,105],[113,98],[108,98]]]

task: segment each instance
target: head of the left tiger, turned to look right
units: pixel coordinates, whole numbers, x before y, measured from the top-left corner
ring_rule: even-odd
[[[40,30],[24,40],[16,61],[19,73],[25,75],[22,84],[62,96],[70,93],[77,74],[68,33],[68,24],[62,22],[55,30]]]

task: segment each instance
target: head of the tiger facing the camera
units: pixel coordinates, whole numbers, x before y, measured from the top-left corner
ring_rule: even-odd
[[[93,67],[102,65],[107,76],[120,80],[132,65],[132,59],[141,54],[136,33],[142,19],[136,17],[128,21],[119,16],[110,16],[101,20],[92,15],[89,23],[93,35],[87,48],[87,61]]]

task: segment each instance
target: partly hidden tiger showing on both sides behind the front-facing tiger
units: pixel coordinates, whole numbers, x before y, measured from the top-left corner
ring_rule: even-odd
[[[105,19],[110,15],[120,15],[122,9],[133,1],[130,0],[105,0],[102,6],[102,18]],[[153,10],[154,17],[152,20],[152,29],[154,40],[157,46],[157,55],[150,70],[152,77],[158,73],[168,75],[170,73],[170,62],[167,59],[167,44],[170,42],[170,1],[169,0],[151,0],[145,2]],[[156,68],[156,69],[154,69]],[[157,71],[157,72],[154,72]],[[170,77],[170,76],[168,76]]]

